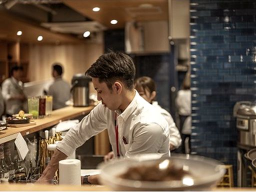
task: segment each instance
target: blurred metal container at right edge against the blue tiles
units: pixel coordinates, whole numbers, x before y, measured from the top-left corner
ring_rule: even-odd
[[[238,143],[245,146],[256,146],[256,105],[241,105],[236,113]]]

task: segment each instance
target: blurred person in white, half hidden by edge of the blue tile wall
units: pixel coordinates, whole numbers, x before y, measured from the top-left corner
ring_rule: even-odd
[[[187,72],[182,83],[182,89],[178,90],[176,97],[176,106],[179,114],[179,129],[182,137],[182,152],[190,151],[191,134],[191,90],[190,90],[190,72]]]

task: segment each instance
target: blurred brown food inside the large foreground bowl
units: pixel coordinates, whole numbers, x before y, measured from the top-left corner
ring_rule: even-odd
[[[141,181],[169,181],[181,180],[185,175],[191,176],[191,173],[182,168],[175,167],[171,162],[161,169],[159,168],[159,162],[157,162],[152,165],[129,167],[127,171],[120,174],[119,177]]]

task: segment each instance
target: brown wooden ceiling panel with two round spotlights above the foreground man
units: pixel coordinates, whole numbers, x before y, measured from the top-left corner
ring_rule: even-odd
[[[63,3],[108,28],[123,28],[125,22],[131,20],[168,20],[168,0],[65,0]],[[160,11],[149,13],[147,10],[150,5]],[[92,8],[96,6],[100,10],[98,12],[92,11]],[[127,11],[127,8],[137,8],[138,12],[132,15]],[[118,23],[110,24],[112,19],[118,20]]]

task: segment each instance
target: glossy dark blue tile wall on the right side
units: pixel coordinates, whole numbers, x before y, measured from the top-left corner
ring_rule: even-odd
[[[190,42],[191,151],[236,173],[232,108],[256,98],[256,1],[190,0]]]

